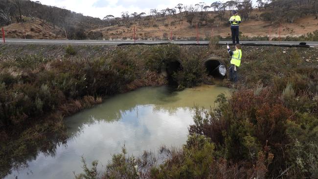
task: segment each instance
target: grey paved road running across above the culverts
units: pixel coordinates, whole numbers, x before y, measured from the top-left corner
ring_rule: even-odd
[[[37,44],[37,45],[118,45],[133,44],[134,41],[99,41],[99,40],[38,40],[38,39],[6,39],[7,44]],[[158,43],[174,43],[174,44],[196,44],[197,41],[136,41],[136,43],[158,44]],[[209,41],[199,41],[200,44],[208,44]],[[220,41],[220,43],[231,43],[230,41]],[[281,45],[299,45],[300,42],[276,42],[276,41],[241,41],[242,44],[281,44]],[[318,46],[318,42],[306,42],[310,46]]]

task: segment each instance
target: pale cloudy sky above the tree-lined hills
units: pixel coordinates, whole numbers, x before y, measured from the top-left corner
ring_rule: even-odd
[[[36,1],[36,0],[33,0]],[[39,0],[42,4],[63,7],[68,10],[103,19],[106,15],[120,17],[121,12],[128,11],[130,14],[145,12],[150,9],[172,8],[177,4],[197,4],[205,2],[210,5],[217,0]],[[226,0],[220,0],[226,1]]]

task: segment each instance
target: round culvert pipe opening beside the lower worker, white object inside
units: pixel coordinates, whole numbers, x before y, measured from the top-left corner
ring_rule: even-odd
[[[224,61],[219,58],[209,58],[205,60],[204,66],[209,76],[214,78],[225,78],[227,74],[227,66]]]

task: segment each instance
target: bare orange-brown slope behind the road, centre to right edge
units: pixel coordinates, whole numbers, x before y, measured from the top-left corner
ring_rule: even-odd
[[[198,27],[199,38],[205,39],[214,36],[221,36],[226,38],[230,36],[229,24],[227,21],[220,21],[216,18],[217,13],[206,12],[209,18],[214,19],[213,23],[201,24]],[[272,24],[270,21],[263,21],[258,10],[254,10],[251,13],[250,20],[243,21],[240,26],[242,35],[252,37],[269,36],[271,28],[271,37],[279,36],[279,24]],[[229,17],[229,12],[227,12]],[[199,16],[199,15],[198,15]],[[162,18],[148,18],[144,20],[140,25],[135,23],[129,27],[122,25],[114,25],[111,27],[104,27],[99,30],[103,33],[104,38],[108,39],[133,39],[134,27],[136,25],[136,39],[170,39],[170,29],[173,32],[173,39],[196,39],[196,28],[190,26],[187,20],[184,18],[176,18],[174,16],[162,17]],[[200,22],[199,22],[200,24]],[[318,29],[318,20],[312,16],[304,16],[297,19],[294,23],[283,22],[281,24],[281,37],[306,35],[307,33],[314,32]],[[213,30],[213,32],[212,32]]]

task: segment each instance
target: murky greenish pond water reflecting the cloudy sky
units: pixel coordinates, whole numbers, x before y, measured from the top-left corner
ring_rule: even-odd
[[[88,163],[106,166],[112,154],[125,144],[138,156],[143,150],[158,151],[161,144],[181,146],[193,124],[193,106],[214,107],[227,88],[202,86],[171,92],[167,87],[142,88],[116,95],[92,109],[66,119],[70,139],[54,154],[39,153],[28,167],[14,171],[8,179],[71,179],[82,172],[81,156]]]

